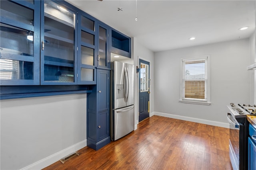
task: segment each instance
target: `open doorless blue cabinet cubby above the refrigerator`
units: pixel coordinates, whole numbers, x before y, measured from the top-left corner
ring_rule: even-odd
[[[111,40],[110,40],[110,52],[125,57],[131,58],[131,38],[116,31],[111,30]]]

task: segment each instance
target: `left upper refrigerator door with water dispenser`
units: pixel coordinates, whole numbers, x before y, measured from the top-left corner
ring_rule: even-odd
[[[114,61],[114,68],[112,71],[114,76],[112,78],[113,83],[113,97],[114,97],[114,107],[113,109],[118,109],[121,107],[126,107],[126,102],[124,98],[124,74],[125,74],[125,63]]]

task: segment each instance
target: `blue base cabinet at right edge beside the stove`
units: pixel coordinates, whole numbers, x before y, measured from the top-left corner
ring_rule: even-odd
[[[256,129],[249,125],[248,170],[256,170]]]

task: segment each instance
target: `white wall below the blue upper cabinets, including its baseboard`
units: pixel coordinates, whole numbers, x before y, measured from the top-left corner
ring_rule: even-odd
[[[2,170],[41,169],[86,146],[86,94],[1,100],[0,108]]]

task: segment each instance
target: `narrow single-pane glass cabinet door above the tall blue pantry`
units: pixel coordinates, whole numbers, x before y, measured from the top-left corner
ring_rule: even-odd
[[[108,30],[106,27],[99,25],[98,27],[98,66],[108,67]]]

